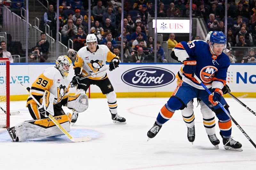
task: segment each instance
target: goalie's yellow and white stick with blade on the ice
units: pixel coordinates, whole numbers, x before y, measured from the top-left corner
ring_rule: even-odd
[[[13,76],[17,82],[28,92],[28,94],[30,95],[30,97],[38,104],[38,106],[41,106],[41,104],[35,99],[35,97],[28,91],[28,89],[26,89],[26,87],[24,85],[22,85],[20,83],[20,81],[16,78],[16,76]],[[91,140],[91,137],[78,137],[78,138],[74,138],[72,137],[70,134],[68,134],[68,132],[60,125],[60,123],[58,121],[56,121],[56,119],[49,114],[49,118],[51,119],[51,121],[61,130],[62,133],[64,133],[68,139],[70,139],[72,142],[85,142],[88,140]]]

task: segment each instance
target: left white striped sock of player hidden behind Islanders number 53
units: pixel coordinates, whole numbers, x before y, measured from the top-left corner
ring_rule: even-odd
[[[190,100],[183,110],[181,110],[181,115],[188,128],[192,128],[195,125],[195,115],[193,112],[193,101]]]

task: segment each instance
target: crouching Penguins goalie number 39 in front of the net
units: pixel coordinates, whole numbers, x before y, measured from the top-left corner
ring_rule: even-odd
[[[68,94],[70,84],[68,73],[71,65],[72,62],[68,56],[61,55],[56,60],[55,67],[47,68],[35,80],[29,92],[41,104],[41,106],[39,107],[31,96],[28,97],[27,107],[34,120],[25,121],[7,129],[13,142],[63,134],[60,129],[49,118],[47,118],[49,113],[44,110],[42,103],[42,97],[45,92],[50,92],[54,95],[53,103],[51,103],[53,104],[53,116],[68,132],[70,131],[72,115],[70,113],[66,115],[62,106],[68,106],[70,109],[78,110],[80,112],[87,109],[88,101],[87,105],[85,102],[80,104],[77,102],[80,98],[88,100],[85,94]],[[81,107],[84,109],[81,110]]]

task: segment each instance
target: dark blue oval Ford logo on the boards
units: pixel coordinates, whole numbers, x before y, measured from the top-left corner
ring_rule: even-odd
[[[174,79],[172,71],[159,67],[139,67],[122,74],[125,84],[141,88],[161,87],[172,83]]]

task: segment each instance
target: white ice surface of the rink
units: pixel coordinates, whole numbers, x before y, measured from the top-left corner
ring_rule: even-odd
[[[91,136],[88,142],[72,143],[65,136],[11,142],[5,129],[0,129],[0,170],[5,169],[69,169],[69,170],[240,170],[256,169],[256,148],[232,123],[232,136],[243,144],[243,152],[223,148],[216,121],[220,149],[210,143],[202,121],[200,107],[194,109],[196,140],[187,139],[187,127],[180,111],[176,111],[157,136],[147,142],[147,132],[168,98],[119,98],[118,114],[127,124],[114,124],[107,99],[89,99],[89,108],[80,113],[70,134]],[[232,98],[227,98],[231,115],[256,142],[256,116]],[[256,111],[256,99],[241,98]],[[31,120],[26,101],[11,102],[11,127]],[[196,104],[194,104],[196,105]],[[64,107],[64,111],[70,111]],[[216,118],[217,119],[217,118]]]

